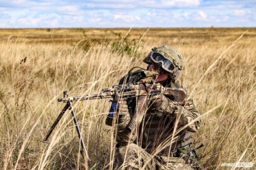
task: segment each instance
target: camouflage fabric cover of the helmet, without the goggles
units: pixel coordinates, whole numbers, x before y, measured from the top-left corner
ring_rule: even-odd
[[[170,73],[170,76],[178,77],[181,70],[183,69],[183,57],[181,53],[178,52],[178,50],[166,44],[159,47],[153,47],[149,55],[144,58],[143,62],[146,62],[147,64],[152,63],[150,59],[150,55],[152,54],[152,52],[159,52],[161,55],[166,57],[166,59],[170,60],[174,64],[174,67],[176,67],[175,69],[177,71],[175,73]]]

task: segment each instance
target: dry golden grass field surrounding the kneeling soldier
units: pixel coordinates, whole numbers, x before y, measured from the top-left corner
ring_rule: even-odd
[[[105,169],[114,140],[107,99],[74,103],[91,162],[84,165],[72,115],[42,142],[64,103],[100,93],[168,44],[184,57],[180,81],[203,125],[193,134],[203,169],[256,163],[256,28],[0,29],[0,169]],[[252,169],[255,169],[253,166]]]

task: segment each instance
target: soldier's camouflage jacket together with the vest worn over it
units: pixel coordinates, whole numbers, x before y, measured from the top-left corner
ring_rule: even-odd
[[[129,72],[127,76],[119,81],[119,84],[139,81],[142,79],[139,76],[139,72],[141,71]],[[181,87],[177,81],[165,82],[162,85],[176,88]],[[171,101],[170,98],[168,100]],[[164,156],[169,151],[172,152],[179,147],[191,144],[190,132],[196,132],[201,125],[201,120],[198,118],[200,114],[191,98],[186,102],[185,106],[177,104],[174,107],[168,104],[164,111],[148,106],[146,108],[146,115],[144,115],[143,122],[137,128],[137,132],[131,133],[127,130],[127,125],[136,111],[136,98],[127,98],[127,106],[129,115],[123,115],[118,118],[117,142],[123,146],[134,142],[149,153],[158,152]]]

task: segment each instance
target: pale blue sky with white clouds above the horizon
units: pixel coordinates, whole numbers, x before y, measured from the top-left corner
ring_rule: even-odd
[[[255,0],[0,0],[0,28],[256,27]]]

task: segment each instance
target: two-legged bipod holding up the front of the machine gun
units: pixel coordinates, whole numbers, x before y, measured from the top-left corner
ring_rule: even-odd
[[[63,95],[64,95],[64,97],[65,97],[66,91],[63,91]],[[50,134],[53,132],[54,128],[56,127],[56,125],[57,125],[58,122],[60,121],[60,118],[63,117],[65,111],[67,111],[68,109],[71,110],[71,113],[72,113],[72,115],[73,115],[73,120],[74,120],[74,123],[75,123],[75,128],[76,128],[76,130],[77,130],[77,132],[78,132],[78,137],[79,137],[80,143],[81,143],[81,145],[82,145],[82,149],[81,149],[81,151],[80,151],[81,154],[82,154],[82,157],[83,157],[83,155],[84,155],[83,153],[85,153],[85,156],[87,157],[87,160],[90,161],[90,158],[89,158],[89,156],[88,156],[88,154],[87,154],[87,149],[86,149],[86,147],[85,147],[85,142],[84,142],[84,140],[83,140],[83,138],[82,138],[82,133],[81,133],[81,130],[80,130],[79,125],[78,125],[78,119],[76,118],[75,110],[74,110],[73,105],[72,105],[72,101],[68,101],[68,102],[65,104],[63,110],[62,110],[62,111],[60,112],[60,114],[58,115],[58,118],[55,120],[55,122],[53,123],[53,125],[50,127],[50,130],[47,132],[46,137],[43,139],[43,143],[48,142],[48,138],[50,137]]]

